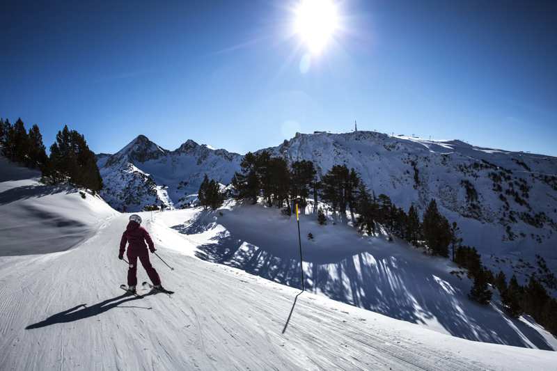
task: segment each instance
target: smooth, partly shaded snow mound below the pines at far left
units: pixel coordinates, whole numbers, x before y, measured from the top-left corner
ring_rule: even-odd
[[[39,179],[0,156],[0,256],[65,251],[116,214],[98,196]]]

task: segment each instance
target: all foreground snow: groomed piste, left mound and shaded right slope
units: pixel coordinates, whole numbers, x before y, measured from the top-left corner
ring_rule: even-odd
[[[0,157],[0,370],[554,369],[553,336],[472,303],[465,275],[404,242],[303,215],[311,292],[288,287],[295,218],[260,205],[142,213],[175,294],[129,296],[116,258],[128,215],[39,177]]]

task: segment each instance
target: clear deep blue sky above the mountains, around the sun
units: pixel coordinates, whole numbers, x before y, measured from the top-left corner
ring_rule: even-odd
[[[296,1],[2,1],[0,117],[95,152],[137,134],[244,153],[377,129],[557,155],[557,2],[337,1],[301,63]]]

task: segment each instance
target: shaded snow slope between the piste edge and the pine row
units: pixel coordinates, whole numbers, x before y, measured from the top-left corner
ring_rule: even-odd
[[[196,242],[199,258],[301,287],[295,216],[243,205],[157,217]],[[460,338],[557,349],[557,340],[528,319],[512,319],[497,305],[470,301],[471,281],[465,274],[451,274],[459,269],[446,259],[424,255],[402,241],[363,237],[331,221],[320,226],[315,216],[302,215],[300,224],[305,285],[311,292]]]

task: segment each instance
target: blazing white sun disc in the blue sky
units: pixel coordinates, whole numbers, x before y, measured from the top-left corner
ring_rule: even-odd
[[[338,12],[332,0],[301,0],[295,8],[295,33],[311,54],[320,54],[338,29]]]

